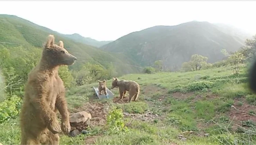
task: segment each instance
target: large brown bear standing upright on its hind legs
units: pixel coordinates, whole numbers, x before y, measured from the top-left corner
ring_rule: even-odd
[[[21,145],[58,145],[58,133],[70,132],[65,87],[58,75],[58,67],[72,65],[75,60],[62,41],[55,45],[54,36],[48,36],[40,62],[29,73],[25,87],[20,112]],[[57,110],[62,116],[61,125]]]

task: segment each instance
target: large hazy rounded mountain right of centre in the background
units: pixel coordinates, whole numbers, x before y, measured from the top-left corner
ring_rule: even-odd
[[[163,60],[165,67],[176,68],[194,54],[207,56],[209,62],[221,60],[224,57],[221,49],[238,50],[249,37],[227,25],[190,21],[132,32],[100,48],[126,55],[141,66]]]

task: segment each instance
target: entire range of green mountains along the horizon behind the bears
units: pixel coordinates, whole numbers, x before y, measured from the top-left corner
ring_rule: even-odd
[[[53,34],[56,41],[63,40],[68,51],[73,51],[80,59],[73,69],[85,62],[103,66],[113,62],[120,74],[140,72],[156,60],[163,60],[166,68],[177,68],[189,61],[193,54],[208,57],[208,62],[216,62],[224,57],[221,49],[236,51],[246,38],[251,37],[247,32],[225,24],[189,21],[174,26],[153,26],[112,42],[98,41],[106,44],[97,48],[85,41],[94,41],[92,38],[78,33],[62,34],[14,15],[0,14],[0,24],[0,41],[42,47],[47,35]]]

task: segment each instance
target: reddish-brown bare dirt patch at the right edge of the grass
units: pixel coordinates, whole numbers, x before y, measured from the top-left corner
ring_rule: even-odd
[[[253,121],[256,122],[256,116],[249,114],[250,110],[255,111],[256,107],[253,105],[249,105],[243,100],[243,105],[238,105],[238,102],[241,100],[236,99],[234,103],[234,107],[230,108],[228,112],[229,118],[232,120],[234,124],[242,125],[242,121]],[[234,119],[233,119],[234,118]]]

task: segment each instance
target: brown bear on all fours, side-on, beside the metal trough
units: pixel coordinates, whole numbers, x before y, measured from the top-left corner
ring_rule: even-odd
[[[132,97],[134,97],[133,101],[137,100],[139,95],[139,84],[136,81],[113,78],[111,89],[117,87],[119,87],[120,100],[125,97],[126,91],[129,91],[128,102],[131,102]]]

